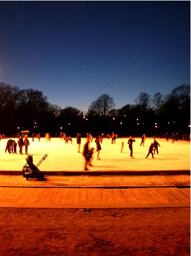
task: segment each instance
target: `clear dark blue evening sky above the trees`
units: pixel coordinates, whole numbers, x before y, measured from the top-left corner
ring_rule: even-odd
[[[190,84],[190,1],[1,1],[0,19],[0,82],[62,108]]]

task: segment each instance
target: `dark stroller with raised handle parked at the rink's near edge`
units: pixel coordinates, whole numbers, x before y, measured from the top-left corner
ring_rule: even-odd
[[[38,162],[37,166],[33,164],[33,156],[26,157],[26,165],[22,168],[22,175],[26,180],[29,178],[37,178],[38,180],[44,180],[44,174],[38,169],[38,166],[45,160],[48,155],[44,155]]]

